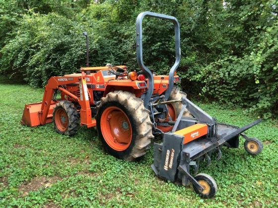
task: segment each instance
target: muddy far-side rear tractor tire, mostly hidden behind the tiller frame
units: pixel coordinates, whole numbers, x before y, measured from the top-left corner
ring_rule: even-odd
[[[174,86],[168,101],[181,100],[182,97],[187,97],[186,93],[180,91],[178,87]],[[177,102],[177,103],[173,103],[172,105],[175,109],[176,118],[177,118],[180,114],[180,111],[182,110],[183,104],[181,102]],[[192,117],[192,114],[188,111],[188,109],[186,109],[184,111],[183,116]]]

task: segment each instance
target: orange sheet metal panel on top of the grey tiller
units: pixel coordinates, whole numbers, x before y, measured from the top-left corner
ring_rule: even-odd
[[[186,144],[208,134],[208,125],[198,123],[179,131],[175,131],[174,134],[184,136],[183,144]]]

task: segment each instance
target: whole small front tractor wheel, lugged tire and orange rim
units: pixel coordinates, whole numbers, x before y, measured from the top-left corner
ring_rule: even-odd
[[[79,126],[79,116],[74,104],[70,101],[60,101],[53,111],[53,123],[59,134],[74,135]]]

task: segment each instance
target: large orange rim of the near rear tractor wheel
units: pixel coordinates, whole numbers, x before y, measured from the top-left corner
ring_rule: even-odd
[[[121,108],[107,107],[101,115],[100,128],[109,147],[116,151],[128,149],[132,141],[132,126]]]

